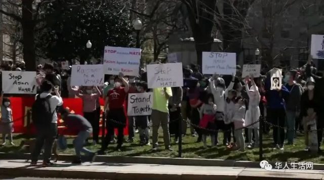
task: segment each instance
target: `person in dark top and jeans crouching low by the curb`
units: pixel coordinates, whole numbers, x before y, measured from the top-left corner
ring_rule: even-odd
[[[90,162],[93,162],[96,158],[96,153],[84,147],[86,139],[89,138],[92,133],[92,126],[89,121],[82,115],[71,114],[68,109],[61,110],[61,117],[64,121],[64,125],[67,127],[66,130],[73,134],[77,134],[77,137],[73,140],[76,158],[72,163],[82,163],[81,152],[89,157]]]

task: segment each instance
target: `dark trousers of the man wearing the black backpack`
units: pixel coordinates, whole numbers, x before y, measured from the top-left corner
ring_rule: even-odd
[[[37,162],[39,154],[41,154],[43,145],[44,148],[44,162],[49,163],[51,161],[52,147],[54,140],[57,136],[57,124],[51,123],[48,127],[37,127],[37,137],[35,148],[31,153],[31,161]]]

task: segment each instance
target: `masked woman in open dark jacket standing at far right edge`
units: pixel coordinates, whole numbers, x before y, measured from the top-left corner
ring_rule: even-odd
[[[315,92],[315,81],[312,77],[307,79],[307,90],[302,94],[301,96],[301,101],[300,101],[300,113],[301,116],[303,117],[303,125],[304,125],[304,130],[305,130],[305,144],[306,144],[306,151],[309,151],[309,141],[308,141],[308,124],[309,122],[306,121],[307,117],[309,116],[309,109],[313,109],[312,111],[315,114],[319,114],[319,107],[320,107],[320,98],[318,94],[314,93]],[[311,119],[312,120],[312,119]],[[316,117],[316,129],[317,129],[317,142],[318,142],[318,151],[320,151],[320,142],[322,140],[322,129],[323,125]]]

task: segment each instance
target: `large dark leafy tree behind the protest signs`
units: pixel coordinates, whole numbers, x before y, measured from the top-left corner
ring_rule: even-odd
[[[102,57],[106,45],[135,46],[133,26],[120,2],[57,0],[44,13],[36,47],[53,61],[79,57],[83,64],[89,54]],[[91,49],[86,48],[88,40]]]

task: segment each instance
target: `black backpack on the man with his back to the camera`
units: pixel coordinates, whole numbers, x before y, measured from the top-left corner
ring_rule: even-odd
[[[35,126],[48,126],[52,123],[53,114],[51,110],[50,98],[52,95],[48,95],[46,98],[36,96],[35,102],[31,107],[31,119]]]

